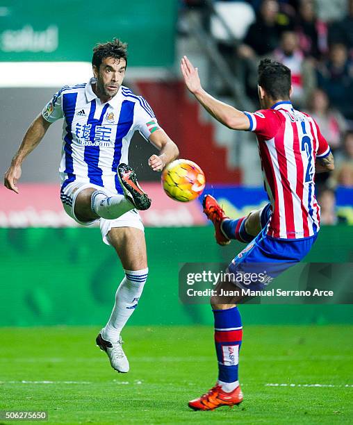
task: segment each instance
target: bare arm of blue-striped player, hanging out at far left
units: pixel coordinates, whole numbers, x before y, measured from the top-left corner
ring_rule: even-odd
[[[28,127],[28,130],[24,135],[24,139],[22,140],[22,144],[17,150],[17,153],[15,153],[15,156],[11,161],[11,165],[3,178],[3,184],[6,188],[19,193],[16,184],[17,180],[21,177],[21,165],[24,158],[26,158],[26,156],[39,144],[50,124],[51,123],[47,122],[47,120],[42,117],[42,114],[40,114],[37,118],[35,118],[31,126]]]

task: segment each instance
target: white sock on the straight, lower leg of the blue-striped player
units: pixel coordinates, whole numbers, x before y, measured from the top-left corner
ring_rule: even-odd
[[[143,270],[125,270],[115,294],[115,304],[110,319],[101,331],[104,340],[118,341],[120,332],[133,314],[147,281],[148,268]]]

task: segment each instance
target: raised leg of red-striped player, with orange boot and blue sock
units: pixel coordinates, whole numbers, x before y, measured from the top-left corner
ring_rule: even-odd
[[[211,195],[204,197],[203,205],[204,213],[215,226],[215,240],[220,245],[229,244],[231,239],[245,243],[251,242],[266,226],[271,215],[270,203],[236,220],[229,219]]]

